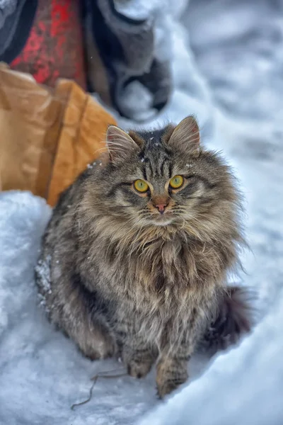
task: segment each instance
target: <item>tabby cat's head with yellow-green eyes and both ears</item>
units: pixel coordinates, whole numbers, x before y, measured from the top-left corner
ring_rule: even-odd
[[[229,167],[200,147],[195,118],[129,134],[110,125],[106,141],[108,164],[98,186],[109,215],[137,227],[187,227],[193,233],[232,212],[237,196]]]

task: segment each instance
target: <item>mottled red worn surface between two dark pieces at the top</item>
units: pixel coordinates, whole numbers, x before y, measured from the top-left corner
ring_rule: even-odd
[[[33,74],[40,84],[54,86],[59,77],[86,89],[80,0],[39,0],[30,36],[12,69]]]

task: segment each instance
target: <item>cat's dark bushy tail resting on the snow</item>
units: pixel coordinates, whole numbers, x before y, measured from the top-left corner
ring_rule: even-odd
[[[216,319],[205,332],[201,347],[215,352],[235,344],[248,333],[255,322],[254,298],[255,293],[250,288],[226,288]]]

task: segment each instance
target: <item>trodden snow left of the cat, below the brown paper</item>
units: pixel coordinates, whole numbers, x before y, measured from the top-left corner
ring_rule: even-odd
[[[155,402],[152,375],[99,378],[91,403],[71,410],[93,375],[121,364],[83,358],[37,305],[33,268],[50,212],[30,193],[0,193],[0,424],[130,423]]]

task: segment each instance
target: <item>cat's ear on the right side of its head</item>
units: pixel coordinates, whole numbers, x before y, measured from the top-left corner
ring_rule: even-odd
[[[168,146],[173,149],[183,149],[192,155],[199,154],[200,129],[197,125],[197,120],[192,116],[184,118],[173,130],[168,140]]]

